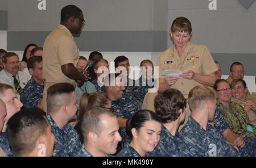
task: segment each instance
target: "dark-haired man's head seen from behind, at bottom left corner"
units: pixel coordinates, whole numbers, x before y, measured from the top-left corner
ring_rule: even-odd
[[[24,109],[14,114],[7,123],[9,142],[17,156],[52,156],[55,137],[39,108]]]

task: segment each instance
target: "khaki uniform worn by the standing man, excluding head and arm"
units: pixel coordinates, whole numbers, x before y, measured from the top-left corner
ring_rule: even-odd
[[[46,37],[43,52],[43,76],[46,79],[43,92],[43,109],[47,112],[47,89],[55,83],[68,82],[75,86],[75,81],[68,78],[61,70],[64,64],[77,65],[79,49],[67,27],[59,24]]]

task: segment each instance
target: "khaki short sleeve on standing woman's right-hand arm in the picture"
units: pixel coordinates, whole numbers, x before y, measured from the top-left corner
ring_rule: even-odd
[[[216,72],[218,70],[212,56],[210,55],[210,52],[207,47],[204,46],[203,51],[203,74],[208,75],[210,73]]]

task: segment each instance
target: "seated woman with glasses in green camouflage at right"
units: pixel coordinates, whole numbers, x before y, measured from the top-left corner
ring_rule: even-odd
[[[229,128],[238,136],[255,136],[254,125],[240,104],[232,100],[232,89],[225,79],[218,79],[213,86],[217,92],[217,108],[221,111]]]

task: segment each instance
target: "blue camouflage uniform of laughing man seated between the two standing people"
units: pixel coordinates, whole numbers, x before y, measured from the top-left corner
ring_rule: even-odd
[[[123,91],[122,98],[112,101],[112,109],[115,116],[128,119],[135,112],[141,110],[141,102],[133,95]],[[122,146],[125,146],[125,144],[129,142],[125,128],[120,128],[119,132],[122,137]]]

